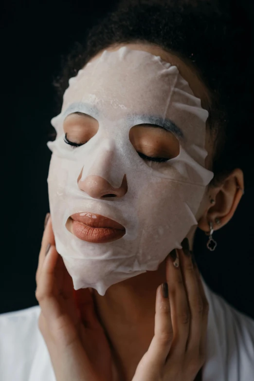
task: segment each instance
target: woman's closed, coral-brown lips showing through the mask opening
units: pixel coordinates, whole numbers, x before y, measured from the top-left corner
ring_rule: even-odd
[[[90,212],[71,215],[66,228],[77,238],[91,243],[112,242],[126,233],[124,226],[118,222]]]

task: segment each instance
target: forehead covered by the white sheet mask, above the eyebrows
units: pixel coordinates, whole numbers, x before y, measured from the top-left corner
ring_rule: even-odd
[[[78,103],[86,107],[73,110]],[[200,129],[208,116],[175,65],[126,46],[105,50],[70,80],[62,111],[81,111],[110,121],[149,114],[169,118],[178,126],[187,118],[189,133]]]

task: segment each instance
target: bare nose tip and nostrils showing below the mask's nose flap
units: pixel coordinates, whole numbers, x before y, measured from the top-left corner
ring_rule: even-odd
[[[77,178],[77,184],[81,191],[86,192],[92,198],[123,197],[128,190],[126,174],[120,188],[113,188],[107,180],[101,176],[89,175],[84,180],[82,178],[83,168]]]

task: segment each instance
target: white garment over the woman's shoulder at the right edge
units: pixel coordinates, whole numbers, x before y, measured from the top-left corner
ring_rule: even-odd
[[[249,381],[254,373],[254,320],[213,292],[204,281],[203,286],[209,303],[207,379]]]

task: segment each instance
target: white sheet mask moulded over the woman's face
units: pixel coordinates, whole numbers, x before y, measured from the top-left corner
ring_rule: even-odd
[[[81,112],[98,121],[98,131],[73,149],[64,142],[63,122]],[[176,66],[161,57],[126,46],[105,50],[69,81],[62,111],[52,119],[57,136],[48,142],[48,176],[56,249],[74,289],[92,287],[105,295],[109,286],[157,270],[193,225],[213,172],[206,170],[208,112],[202,109]],[[164,125],[180,143],[177,157],[146,162],[129,140],[131,127]],[[82,171],[83,168],[83,171]],[[78,186],[97,175],[113,188],[127,176],[123,197],[93,198]],[[126,234],[109,243],[89,243],[66,229],[73,213],[101,214],[122,224]]]

